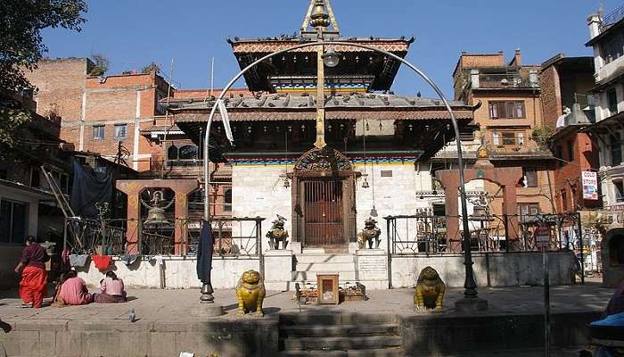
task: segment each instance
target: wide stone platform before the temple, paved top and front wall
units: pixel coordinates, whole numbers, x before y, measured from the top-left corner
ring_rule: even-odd
[[[239,316],[234,291],[218,290],[215,297],[224,305],[226,315],[208,319],[190,312],[199,304],[199,290],[195,289],[129,290],[127,303],[44,307],[38,311],[19,309],[16,293],[0,292],[0,319],[12,327],[8,334],[0,332],[0,342],[12,357],[171,357],[181,351],[219,357],[293,355],[279,352],[281,341],[283,345],[279,328],[283,320],[304,320],[314,328],[333,323],[362,326],[366,321],[390,319],[398,326],[401,348],[401,354],[392,355],[505,352],[511,356],[512,351],[541,348],[541,287],[481,288],[480,297],[489,301],[489,311],[470,314],[455,311],[461,293],[462,289],[449,288],[443,311],[421,314],[413,309],[413,289],[370,291],[370,300],[366,302],[301,307],[292,300],[292,293],[268,292],[264,304],[267,316],[258,318]],[[597,284],[554,287],[554,345],[585,345],[587,322],[599,316],[611,295],[612,289]],[[135,323],[127,317],[132,309],[136,313]],[[324,342],[327,341],[319,341]],[[299,355],[350,354],[337,351]]]

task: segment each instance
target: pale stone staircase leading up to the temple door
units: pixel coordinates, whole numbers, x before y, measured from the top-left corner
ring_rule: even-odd
[[[316,274],[338,273],[341,285],[355,284],[356,257],[349,253],[315,253],[296,254],[296,267],[292,272],[293,283],[301,287],[316,286]]]

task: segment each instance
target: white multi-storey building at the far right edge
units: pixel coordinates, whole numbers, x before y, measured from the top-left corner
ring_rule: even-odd
[[[595,124],[587,132],[599,147],[603,205],[612,214],[604,221],[603,285],[617,286],[624,279],[624,6],[607,16],[587,19],[594,48]]]

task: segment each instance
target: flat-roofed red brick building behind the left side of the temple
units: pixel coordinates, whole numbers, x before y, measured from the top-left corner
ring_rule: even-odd
[[[164,112],[159,103],[168,83],[156,72],[93,77],[87,58],[45,60],[27,72],[37,87],[37,113],[61,118],[61,138],[78,151],[113,158],[121,143],[134,170],[150,170],[152,147],[141,129]]]

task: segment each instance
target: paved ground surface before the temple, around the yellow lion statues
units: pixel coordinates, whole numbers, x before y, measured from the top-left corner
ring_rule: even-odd
[[[603,311],[608,303],[612,289],[600,287],[597,283],[588,282],[585,286],[554,286],[551,289],[551,305],[553,313],[577,311]],[[444,298],[442,314],[459,314],[454,309],[456,300],[462,298],[462,289],[447,290]],[[517,315],[540,313],[543,311],[543,288],[507,287],[480,288],[480,297],[489,302],[489,311],[482,315]],[[278,312],[301,311],[336,311],[357,313],[390,313],[400,315],[415,314],[413,308],[413,289],[395,289],[369,291],[370,299],[366,302],[348,302],[341,305],[302,305],[299,307],[292,299],[293,293],[268,292],[264,303],[267,314]],[[199,305],[199,290],[129,290],[127,303],[89,304],[64,308],[49,307],[46,299],[45,307],[39,310],[20,309],[21,301],[16,292],[0,291],[0,319],[14,324],[29,323],[63,323],[72,320],[88,320],[96,322],[126,320],[128,312],[135,310],[136,316],[143,322],[183,322],[201,320],[189,315]],[[236,313],[236,297],[234,290],[221,290],[215,293],[218,303],[226,309],[223,319],[240,319]]]

